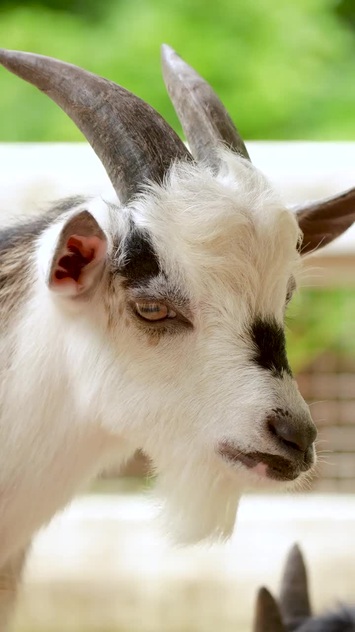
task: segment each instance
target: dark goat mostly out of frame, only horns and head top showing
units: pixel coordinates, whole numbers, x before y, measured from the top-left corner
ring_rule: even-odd
[[[355,607],[312,616],[303,555],[294,545],[286,560],[279,601],[267,588],[256,598],[254,632],[355,632]]]

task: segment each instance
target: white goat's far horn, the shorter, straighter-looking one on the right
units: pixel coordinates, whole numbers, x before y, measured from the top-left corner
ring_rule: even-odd
[[[162,70],[195,159],[217,169],[215,149],[222,141],[250,160],[236,126],[212,87],[167,44],[162,45]]]

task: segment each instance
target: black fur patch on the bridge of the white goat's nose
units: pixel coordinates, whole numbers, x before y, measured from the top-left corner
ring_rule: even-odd
[[[254,362],[272,371],[276,377],[282,377],[284,372],[292,375],[284,330],[274,317],[257,317],[250,327],[250,337],[255,349]]]

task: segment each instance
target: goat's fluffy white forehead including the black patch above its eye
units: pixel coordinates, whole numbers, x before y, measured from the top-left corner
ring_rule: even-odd
[[[126,283],[152,296],[214,297],[231,313],[246,295],[255,313],[282,303],[299,262],[297,222],[254,167],[228,159],[217,177],[174,166],[133,202],[113,263]]]

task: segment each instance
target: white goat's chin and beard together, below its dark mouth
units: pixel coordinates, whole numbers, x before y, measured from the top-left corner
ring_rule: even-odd
[[[220,464],[217,458],[195,459],[190,464],[174,460],[157,473],[156,520],[175,545],[223,542],[234,531],[239,500],[246,491],[291,492],[303,485],[304,475],[292,482],[275,481],[243,466]]]

